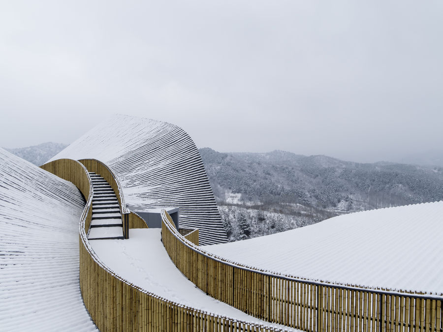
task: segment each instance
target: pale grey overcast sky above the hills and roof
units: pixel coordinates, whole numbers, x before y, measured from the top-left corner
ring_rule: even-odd
[[[390,160],[443,144],[443,1],[2,1],[0,146],[107,114],[198,147]]]

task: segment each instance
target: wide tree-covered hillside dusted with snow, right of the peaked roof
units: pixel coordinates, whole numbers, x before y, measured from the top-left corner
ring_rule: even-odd
[[[286,151],[200,153],[219,205],[350,212],[443,199],[439,166],[362,164]]]

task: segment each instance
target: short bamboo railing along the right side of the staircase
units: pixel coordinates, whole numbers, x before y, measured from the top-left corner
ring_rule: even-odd
[[[115,173],[105,163],[97,159],[80,159],[79,162],[82,163],[89,172],[94,172],[103,177],[103,179],[108,181],[114,190],[119,201],[120,211],[122,211],[123,236],[125,239],[129,238],[130,228],[148,228],[148,225],[143,218],[141,218],[137,213],[127,209],[120,181]]]

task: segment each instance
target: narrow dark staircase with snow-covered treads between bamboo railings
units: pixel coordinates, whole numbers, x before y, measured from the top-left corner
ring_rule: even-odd
[[[124,239],[122,213],[114,190],[100,175],[89,172],[89,176],[94,195],[88,240]]]

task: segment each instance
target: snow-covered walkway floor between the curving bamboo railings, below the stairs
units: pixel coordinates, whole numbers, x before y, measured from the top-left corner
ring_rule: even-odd
[[[159,228],[130,229],[127,240],[95,240],[90,244],[109,269],[157,296],[236,320],[297,331],[259,320],[206,295],[171,261],[160,241],[160,231]]]

